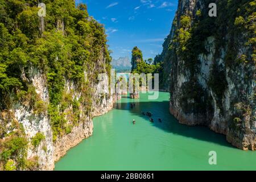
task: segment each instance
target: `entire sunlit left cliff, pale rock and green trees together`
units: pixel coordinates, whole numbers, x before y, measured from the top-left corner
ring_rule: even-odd
[[[0,1],[0,169],[53,169],[112,108],[104,27],[73,0]]]

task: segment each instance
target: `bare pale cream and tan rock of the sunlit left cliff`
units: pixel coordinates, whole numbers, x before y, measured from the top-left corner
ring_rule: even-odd
[[[38,96],[45,102],[49,102],[49,94],[46,85],[46,77],[42,72],[36,68],[30,69],[30,79],[35,87]],[[66,92],[69,93],[71,90],[76,88],[76,85],[71,82],[66,82],[65,84]],[[27,148],[27,159],[37,158],[38,167],[32,168],[40,170],[52,170],[54,169],[54,163],[57,162],[66,152],[79,144],[83,139],[88,138],[93,133],[93,122],[92,118],[98,115],[105,114],[112,109],[113,103],[116,100],[115,95],[105,95],[102,96],[97,92],[97,84],[93,84],[92,88],[95,90],[93,94],[92,111],[90,113],[82,113],[84,108],[81,110],[81,119],[77,125],[73,126],[68,134],[63,134],[53,142],[53,134],[51,128],[51,119],[48,113],[42,113],[40,115],[35,115],[35,111],[31,107],[26,107],[24,105],[15,105],[15,109],[6,111],[7,113],[12,113],[13,120],[17,121],[23,126],[24,133],[28,140],[31,140],[37,133],[42,133],[44,139],[40,142],[36,149],[33,146],[28,146]],[[76,94],[73,93],[73,97]],[[72,109],[72,108],[71,108]],[[1,111],[2,115],[4,111]],[[68,119],[68,118],[67,118]],[[69,122],[69,120],[68,120]],[[9,125],[5,123],[5,118],[2,116],[0,118],[0,123],[4,125]],[[11,131],[11,128],[9,129]]]

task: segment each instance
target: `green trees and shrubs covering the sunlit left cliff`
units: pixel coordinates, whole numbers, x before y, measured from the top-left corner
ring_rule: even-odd
[[[86,114],[92,110],[90,85],[98,73],[110,73],[105,29],[89,17],[86,5],[76,7],[73,0],[43,2],[46,26],[40,31],[38,1],[0,0],[0,170],[13,168],[13,164],[18,170],[38,166],[36,159],[27,159],[31,143],[14,117],[14,105],[32,108],[35,118],[48,115],[55,142],[78,124],[79,107]],[[104,61],[99,59],[102,55]],[[36,93],[31,70],[45,77],[49,103]],[[79,101],[65,92],[66,80],[77,85]],[[68,108],[72,110],[67,114]]]

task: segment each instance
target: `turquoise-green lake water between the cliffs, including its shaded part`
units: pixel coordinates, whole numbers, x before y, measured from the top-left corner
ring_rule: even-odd
[[[168,112],[169,97],[163,92],[156,101],[148,101],[147,94],[139,100],[123,96],[113,110],[93,119],[93,136],[69,150],[55,170],[256,169],[256,152],[231,146],[207,127],[180,125]],[[155,122],[142,111],[151,111]],[[217,152],[217,165],[209,165],[209,151]]]

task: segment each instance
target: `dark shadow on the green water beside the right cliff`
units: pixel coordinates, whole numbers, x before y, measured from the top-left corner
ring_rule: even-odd
[[[131,104],[135,104],[135,106],[131,106]],[[142,112],[146,113],[147,111],[150,111],[153,114],[152,119],[154,119],[154,123],[152,123],[152,126],[154,127],[158,127],[159,129],[162,129],[168,133],[183,135],[184,137],[204,140],[207,142],[217,143],[222,146],[234,148],[230,143],[226,141],[225,135],[214,133],[213,131],[210,131],[208,127],[181,125],[177,119],[169,113],[168,101],[126,101],[115,103],[114,108],[119,110],[129,110],[132,115],[137,115],[146,119],[146,122],[150,122],[150,119],[148,116],[143,115]],[[158,118],[162,119],[162,123],[158,121]],[[143,122],[145,121],[143,120]]]

